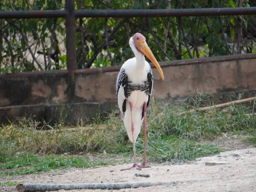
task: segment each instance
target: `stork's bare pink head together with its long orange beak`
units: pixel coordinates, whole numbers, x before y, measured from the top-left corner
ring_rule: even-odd
[[[146,42],[146,37],[137,32],[133,35],[132,38],[134,46],[137,49],[137,51],[139,51],[139,53],[142,53],[143,55],[148,57],[148,59],[150,59],[150,61],[155,65],[156,69],[158,69],[158,72],[160,73],[162,79],[164,79],[164,73],[162,72],[159,63],[156,60],[156,57],[154,57],[152,51],[150,50],[150,47]]]

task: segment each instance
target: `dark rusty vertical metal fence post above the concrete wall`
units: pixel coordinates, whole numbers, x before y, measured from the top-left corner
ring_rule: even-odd
[[[66,49],[67,49],[67,69],[72,81],[75,77],[76,69],[76,49],[75,49],[75,1],[65,0],[65,9],[67,11],[66,28]]]

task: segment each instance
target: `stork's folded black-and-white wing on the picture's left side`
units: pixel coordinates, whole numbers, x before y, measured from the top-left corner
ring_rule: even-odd
[[[126,99],[127,99],[127,86],[128,76],[125,73],[125,69],[121,69],[117,77],[116,91],[117,91],[117,102],[121,111],[122,117],[126,110]]]

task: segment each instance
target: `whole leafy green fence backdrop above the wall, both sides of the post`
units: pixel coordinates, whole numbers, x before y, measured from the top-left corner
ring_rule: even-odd
[[[144,4],[131,1],[131,4],[128,2],[122,6],[118,4],[119,1],[98,2],[97,4],[90,1],[86,4],[85,1],[77,1],[75,6],[76,9],[150,6],[151,9],[170,9],[189,6],[178,1],[175,5],[171,5],[170,1],[147,1]],[[253,6],[253,1],[243,1],[243,5],[235,1],[218,2],[233,7]],[[193,8],[195,5],[196,3],[192,3],[190,7]],[[42,0],[17,1],[10,4],[9,1],[5,1],[0,5],[0,9],[17,10],[22,6],[26,10],[60,10],[63,9],[64,2]],[[256,53],[255,26],[255,15],[77,18],[76,68],[121,65],[133,57],[128,41],[135,32],[141,32],[146,36],[158,61]],[[67,69],[65,35],[65,18],[0,20],[0,73]]]

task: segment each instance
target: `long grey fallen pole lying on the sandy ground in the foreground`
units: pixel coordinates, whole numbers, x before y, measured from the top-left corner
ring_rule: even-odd
[[[203,179],[194,179],[195,181],[204,181]],[[138,187],[152,187],[156,185],[176,185],[178,183],[187,183],[191,181],[159,181],[159,182],[131,182],[131,183],[24,183],[16,186],[19,192],[33,192],[33,191],[58,191],[73,190],[73,189],[128,189]]]

